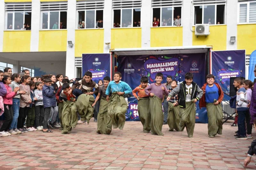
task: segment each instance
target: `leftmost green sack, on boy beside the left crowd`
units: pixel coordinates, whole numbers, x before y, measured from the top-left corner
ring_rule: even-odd
[[[68,133],[77,124],[76,104],[73,101],[65,102],[62,110],[62,134]]]

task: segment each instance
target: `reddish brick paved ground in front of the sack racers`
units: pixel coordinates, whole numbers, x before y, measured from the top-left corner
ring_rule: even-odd
[[[124,130],[114,129],[111,135],[97,134],[96,127],[91,120],[71,134],[54,130],[1,137],[0,170],[240,170],[253,140],[234,139],[237,127],[230,123],[216,138],[208,138],[207,124],[195,124],[193,138],[186,131],[169,132],[168,125],[163,126],[164,136],[143,133],[140,122],[126,122]],[[256,169],[254,160],[247,169]]]

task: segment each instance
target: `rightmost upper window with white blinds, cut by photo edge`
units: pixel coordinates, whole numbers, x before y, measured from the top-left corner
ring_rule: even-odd
[[[256,1],[239,3],[239,23],[256,23]]]

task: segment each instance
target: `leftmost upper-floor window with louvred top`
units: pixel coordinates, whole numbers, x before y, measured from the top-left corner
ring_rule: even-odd
[[[7,30],[26,30],[28,25],[27,30],[31,30],[31,3],[6,3],[5,10]]]

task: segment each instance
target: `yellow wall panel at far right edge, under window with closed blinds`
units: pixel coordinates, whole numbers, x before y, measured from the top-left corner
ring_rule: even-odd
[[[237,25],[237,49],[244,50],[247,55],[256,50],[256,24]]]

